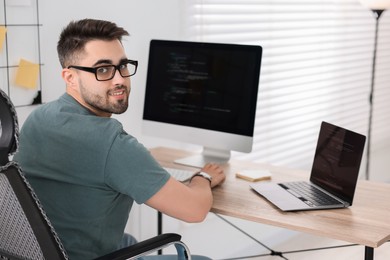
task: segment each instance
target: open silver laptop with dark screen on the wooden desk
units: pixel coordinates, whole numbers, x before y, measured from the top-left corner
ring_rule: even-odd
[[[250,187],[282,211],[352,205],[366,137],[322,122],[310,181],[254,183]]]

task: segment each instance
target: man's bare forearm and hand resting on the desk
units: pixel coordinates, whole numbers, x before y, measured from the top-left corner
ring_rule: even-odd
[[[207,164],[201,171],[212,177],[211,183],[202,176],[195,176],[184,185],[171,177],[146,204],[185,222],[203,221],[213,203],[211,188],[221,184],[225,174],[216,164]]]

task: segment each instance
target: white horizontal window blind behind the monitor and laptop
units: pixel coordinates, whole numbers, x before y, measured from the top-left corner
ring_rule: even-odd
[[[321,121],[367,134],[375,18],[357,0],[182,4],[187,40],[263,47],[253,151],[233,157],[310,169]],[[390,147],[388,12],[379,22],[371,154]]]

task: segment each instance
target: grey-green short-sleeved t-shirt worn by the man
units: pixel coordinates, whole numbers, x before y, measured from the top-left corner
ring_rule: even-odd
[[[116,250],[133,201],[144,203],[169,179],[121,123],[68,94],[31,113],[14,160],[72,260]]]

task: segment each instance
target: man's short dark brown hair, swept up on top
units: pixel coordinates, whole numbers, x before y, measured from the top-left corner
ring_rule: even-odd
[[[127,35],[129,33],[125,29],[109,21],[95,19],[72,21],[62,30],[57,44],[61,66],[66,68],[77,61],[85,44],[91,40],[122,41],[122,37]]]

